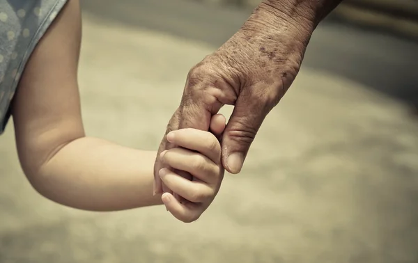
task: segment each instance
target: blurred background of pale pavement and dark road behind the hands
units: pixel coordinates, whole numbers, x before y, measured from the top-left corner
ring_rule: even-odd
[[[88,135],[156,150],[189,68],[256,3],[82,1]],[[0,137],[0,262],[418,262],[417,40],[416,0],[339,6],[242,173],[226,175],[192,224],[164,207],[91,213],[45,200],[24,178],[10,123]]]

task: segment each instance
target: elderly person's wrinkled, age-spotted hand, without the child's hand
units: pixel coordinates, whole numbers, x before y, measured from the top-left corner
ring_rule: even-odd
[[[284,12],[272,2],[263,1],[231,39],[189,71],[180,106],[167,125],[166,134],[186,127],[207,131],[212,115],[224,104],[234,105],[222,136],[222,164],[230,173],[240,172],[265,116],[294,81],[316,26],[312,13],[300,12],[310,7]],[[156,175],[163,168],[160,152],[172,147],[164,136]],[[169,191],[157,176],[154,191]]]

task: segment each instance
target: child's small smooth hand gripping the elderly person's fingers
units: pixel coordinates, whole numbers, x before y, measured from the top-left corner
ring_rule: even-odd
[[[196,221],[217,195],[224,178],[221,145],[218,138],[225,129],[224,115],[212,116],[209,131],[179,129],[167,134],[167,140],[178,147],[160,154],[163,164],[170,167],[159,172],[162,182],[176,193],[162,194],[167,210],[185,223]],[[192,180],[178,175],[180,170],[191,174]],[[181,201],[179,201],[181,200]]]

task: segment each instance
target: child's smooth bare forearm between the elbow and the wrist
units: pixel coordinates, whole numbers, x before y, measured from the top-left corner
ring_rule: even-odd
[[[29,180],[42,196],[78,209],[160,205],[161,196],[153,196],[155,154],[83,137],[66,144]]]

